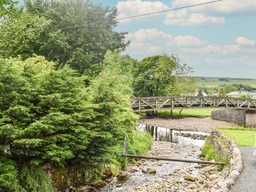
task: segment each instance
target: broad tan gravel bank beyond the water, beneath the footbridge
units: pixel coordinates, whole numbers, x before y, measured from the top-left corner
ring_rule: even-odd
[[[165,127],[176,130],[204,131],[210,133],[215,127],[239,127],[225,121],[214,120],[211,117],[184,117],[182,119],[148,118],[141,116],[140,123]],[[256,190],[255,190],[256,191]]]

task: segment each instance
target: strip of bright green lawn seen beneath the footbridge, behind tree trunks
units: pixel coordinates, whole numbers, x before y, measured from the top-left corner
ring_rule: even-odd
[[[219,108],[196,108],[196,109],[183,109],[181,115],[188,116],[202,116],[207,117],[212,115],[212,111],[220,110]],[[158,111],[160,116],[165,116],[166,111]],[[171,114],[171,110],[167,110],[167,115]],[[173,115],[180,115],[179,109],[173,109]]]

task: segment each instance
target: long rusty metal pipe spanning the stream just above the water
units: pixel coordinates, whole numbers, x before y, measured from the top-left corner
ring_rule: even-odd
[[[120,154],[124,156],[124,154]],[[156,159],[156,160],[164,160],[164,161],[178,161],[178,162],[189,162],[189,163],[202,163],[202,164],[212,164],[212,165],[226,165],[225,162],[212,162],[212,161],[201,161],[201,160],[192,160],[192,159],[176,159],[176,158],[165,158],[165,157],[152,157],[152,156],[144,156],[144,155],[130,155],[126,154],[126,157],[132,158],[144,158],[144,159]]]

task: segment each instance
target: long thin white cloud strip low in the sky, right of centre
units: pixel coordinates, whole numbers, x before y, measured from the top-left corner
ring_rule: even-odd
[[[241,51],[241,48],[239,45],[207,45],[204,47],[199,48],[181,48],[181,50],[184,53],[190,53],[190,54],[212,54],[212,53],[219,53],[223,55],[227,55],[234,52]]]

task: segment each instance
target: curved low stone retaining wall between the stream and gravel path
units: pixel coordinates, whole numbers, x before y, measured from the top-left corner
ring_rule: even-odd
[[[236,182],[236,180],[239,178],[243,168],[243,157],[241,155],[240,150],[237,148],[234,141],[230,140],[226,135],[221,133],[218,130],[214,130],[211,133],[211,140],[214,141],[216,137],[220,137],[227,145],[228,148],[228,167],[229,167],[229,174],[226,176],[226,178],[223,178],[219,181],[216,185],[219,186],[216,191],[218,192],[228,192],[231,188],[231,186]],[[220,147],[220,143],[218,148],[219,152],[223,151],[223,145]]]

